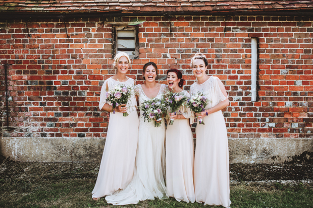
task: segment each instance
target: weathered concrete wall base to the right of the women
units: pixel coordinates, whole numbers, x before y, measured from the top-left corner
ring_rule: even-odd
[[[230,163],[313,161],[313,138],[232,138],[228,144]]]

